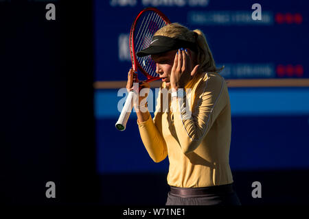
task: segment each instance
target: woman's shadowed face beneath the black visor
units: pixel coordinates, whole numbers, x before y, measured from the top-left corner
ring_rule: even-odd
[[[170,73],[174,64],[176,50],[168,51],[159,55],[151,55],[152,60],[157,64],[156,72],[166,86],[170,86]]]

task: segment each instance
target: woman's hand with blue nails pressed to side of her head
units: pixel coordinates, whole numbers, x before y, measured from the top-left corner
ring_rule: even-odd
[[[199,65],[194,66],[190,50],[179,49],[175,55],[170,75],[170,86],[173,90],[185,88],[185,84],[197,73]]]

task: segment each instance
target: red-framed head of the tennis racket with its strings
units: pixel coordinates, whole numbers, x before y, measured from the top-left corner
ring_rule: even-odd
[[[135,18],[130,29],[130,56],[133,70],[137,69],[147,77],[146,81],[155,81],[159,79],[156,73],[156,64],[150,55],[137,57],[137,51],[141,51],[150,46],[152,37],[157,30],[170,24],[170,20],[157,8],[145,8]]]

